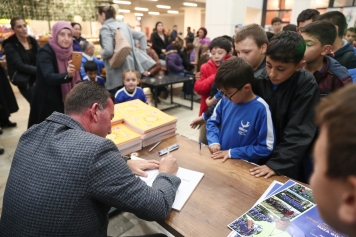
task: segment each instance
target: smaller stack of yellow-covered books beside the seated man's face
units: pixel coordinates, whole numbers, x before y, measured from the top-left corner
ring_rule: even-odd
[[[142,147],[140,134],[132,131],[122,123],[112,125],[111,134],[107,135],[106,138],[116,144],[121,155],[138,151]]]

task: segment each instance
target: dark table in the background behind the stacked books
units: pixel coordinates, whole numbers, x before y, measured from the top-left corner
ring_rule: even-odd
[[[170,85],[170,87],[171,87],[171,104],[173,106],[164,108],[162,110],[172,109],[172,108],[180,107],[180,106],[190,108],[190,110],[193,110],[193,93],[190,95],[190,107],[183,105],[183,104],[179,104],[177,102],[173,102],[173,84],[181,83],[181,82],[188,82],[188,81],[194,83],[193,76],[182,77],[182,76],[174,76],[174,75],[165,75],[165,76],[141,79],[142,85],[154,88],[154,98],[158,98],[157,87]],[[157,100],[156,99],[155,99],[155,107],[157,108]]]

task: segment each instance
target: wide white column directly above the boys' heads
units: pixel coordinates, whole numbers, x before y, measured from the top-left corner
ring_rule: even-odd
[[[205,27],[208,37],[235,33],[235,25],[244,24],[247,11],[247,0],[206,0]]]

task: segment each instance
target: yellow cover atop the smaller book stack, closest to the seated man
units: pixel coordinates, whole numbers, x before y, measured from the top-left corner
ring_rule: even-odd
[[[112,125],[111,134],[108,134],[106,138],[113,141],[116,145],[120,145],[137,138],[141,139],[141,135],[120,123]]]

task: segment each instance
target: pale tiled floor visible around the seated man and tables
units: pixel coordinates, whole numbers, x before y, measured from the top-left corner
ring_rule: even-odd
[[[3,194],[7,177],[9,175],[11,161],[14,156],[16,146],[19,138],[23,132],[26,131],[28,115],[30,107],[27,101],[22,97],[17,87],[13,87],[17,103],[19,105],[19,111],[12,114],[10,120],[17,123],[15,128],[3,129],[3,134],[0,135],[0,147],[5,149],[5,154],[0,155],[0,215],[2,210]],[[175,90],[179,94],[179,89]],[[174,100],[190,106],[190,101],[181,99],[178,95],[174,97]],[[169,103],[169,98],[161,100],[159,108],[164,108]],[[174,108],[165,111],[166,113],[176,116],[177,133],[184,135],[190,139],[198,140],[199,131],[193,130],[189,127],[190,122],[198,116],[199,104],[194,102],[194,109],[189,110],[186,108]],[[164,230],[156,222],[148,222],[137,218],[131,213],[122,213],[110,219],[108,227],[108,235],[121,237],[121,236],[135,236],[143,234],[153,233],[165,233],[168,236],[173,236]]]

